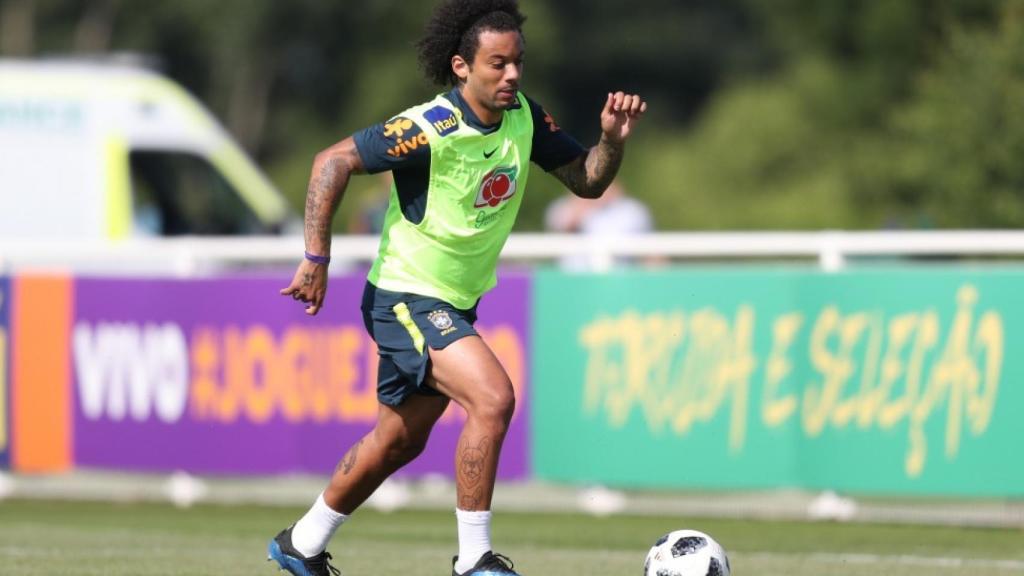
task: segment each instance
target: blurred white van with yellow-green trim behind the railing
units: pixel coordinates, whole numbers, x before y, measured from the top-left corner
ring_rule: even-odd
[[[268,234],[293,217],[224,128],[167,78],[0,59],[0,240]]]

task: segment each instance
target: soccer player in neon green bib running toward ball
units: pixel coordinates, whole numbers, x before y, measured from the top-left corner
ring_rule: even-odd
[[[379,412],[327,488],[269,544],[298,576],[337,574],[335,530],[426,445],[454,400],[467,419],[455,454],[459,553],[454,576],[516,575],[490,546],[490,499],[515,405],[512,383],[473,329],[525,192],[530,162],[574,194],[598,198],[646,104],[610,92],[601,137],[585,149],[519,91],[525,18],[516,0],[444,0],[419,42],[426,75],[450,91],[316,155],[306,195],[306,255],[281,291],[315,315],[324,306],[331,221],[349,176],[391,170],[380,250],[362,297],[377,342]]]

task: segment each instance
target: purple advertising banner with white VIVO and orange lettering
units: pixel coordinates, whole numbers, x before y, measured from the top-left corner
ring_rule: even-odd
[[[377,417],[365,276],[332,277],[308,317],[286,278],[75,281],[74,460],[200,474],[330,474]],[[503,274],[477,329],[516,386],[499,477],[528,469],[529,279]],[[453,405],[404,476],[451,477],[465,415]]]

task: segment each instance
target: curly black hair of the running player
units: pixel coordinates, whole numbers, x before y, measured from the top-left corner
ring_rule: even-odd
[[[480,47],[480,33],[518,32],[526,16],[519,12],[517,0],[444,0],[435,9],[416,43],[420,67],[431,82],[446,86],[458,85],[452,71],[452,57],[459,54],[473,61]]]

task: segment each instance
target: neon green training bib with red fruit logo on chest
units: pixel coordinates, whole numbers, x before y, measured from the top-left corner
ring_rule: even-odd
[[[406,219],[392,188],[380,250],[369,280],[469,308],[497,284],[498,256],[512,232],[529,173],[534,119],[529,105],[505,112],[501,128],[481,134],[445,97],[395,117],[415,122],[430,145],[423,220]],[[400,124],[388,124],[399,131]],[[411,127],[411,126],[410,126]],[[423,136],[398,146],[415,147]]]

